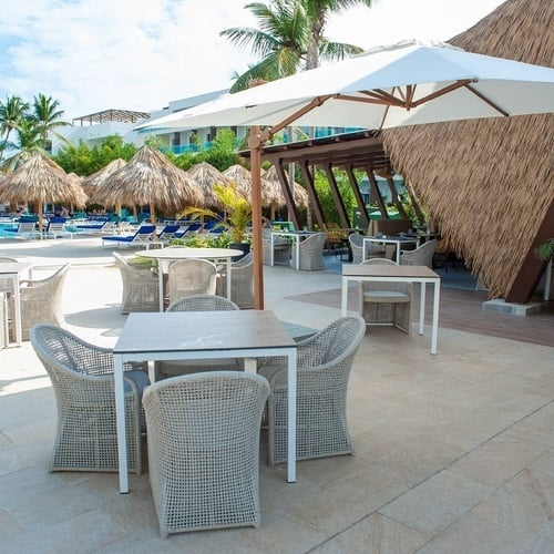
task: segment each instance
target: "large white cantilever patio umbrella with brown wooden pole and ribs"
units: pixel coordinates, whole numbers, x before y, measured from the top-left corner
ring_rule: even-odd
[[[253,129],[255,305],[263,307],[259,199],[263,144],[293,123],[380,130],[554,112],[554,69],[475,54],[444,43],[406,41],[297,73],[137,129],[264,125]],[[256,217],[256,214],[258,217]]]

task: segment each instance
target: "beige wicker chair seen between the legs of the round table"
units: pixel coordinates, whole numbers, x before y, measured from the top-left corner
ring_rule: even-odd
[[[167,270],[170,304],[191,295],[215,295],[217,268],[207,259],[172,261]]]

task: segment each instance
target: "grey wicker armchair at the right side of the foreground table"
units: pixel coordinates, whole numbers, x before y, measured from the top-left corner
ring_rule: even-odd
[[[337,319],[314,337],[298,342],[297,460],[351,452],[346,399],[352,361],[366,334],[359,316]],[[267,404],[270,465],[287,460],[287,369],[268,358],[258,373],[269,381]]]

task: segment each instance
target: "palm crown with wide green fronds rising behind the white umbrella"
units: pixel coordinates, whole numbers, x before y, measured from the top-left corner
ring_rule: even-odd
[[[254,79],[274,81],[308,69],[309,48],[318,49],[318,60],[341,60],[361,52],[362,49],[352,44],[328,41],[322,35],[322,28],[315,40],[311,35],[314,25],[307,10],[309,3],[307,0],[249,3],[245,8],[256,17],[259,29],[232,28],[219,33],[239,48],[249,45],[253,54],[260,58],[259,62],[237,76],[230,92],[247,89]]]

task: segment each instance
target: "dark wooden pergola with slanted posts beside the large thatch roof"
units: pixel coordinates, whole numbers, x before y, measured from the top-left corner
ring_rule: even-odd
[[[250,151],[239,153],[240,156],[248,158]],[[337,185],[335,170],[343,171],[348,176],[356,203],[360,213],[363,228],[369,226],[369,214],[366,203],[360,193],[360,184],[355,175],[355,170],[365,172],[369,179],[372,196],[376,198],[383,218],[388,218],[384,201],[377,185],[376,174],[387,179],[391,191],[392,201],[401,215],[406,217],[404,208],[398,201],[398,191],[392,178],[393,172],[389,156],[386,154],[382,141],[378,134],[371,131],[360,131],[342,135],[325,136],[320,138],[310,138],[307,141],[285,143],[265,146],[261,150],[261,160],[270,162],[276,170],[279,182],[283,187],[289,217],[295,228],[301,228],[301,223],[296,203],[294,202],[294,192],[291,184],[287,178],[286,166],[296,164],[304,176],[306,189],[308,191],[310,206],[318,226],[321,229],[327,228],[327,220],[321,208],[321,203],[315,187],[315,168],[322,170],[329,183],[335,205],[339,213],[341,226],[343,228],[353,227],[350,216],[347,213],[345,203]],[[423,222],[423,215],[419,208],[418,202],[412,189],[407,185],[407,192],[410,195],[412,205],[416,209],[418,219]]]

